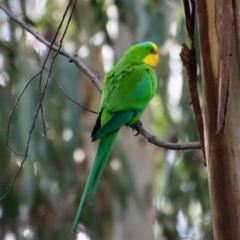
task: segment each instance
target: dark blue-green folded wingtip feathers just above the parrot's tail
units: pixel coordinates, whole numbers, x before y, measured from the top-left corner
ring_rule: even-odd
[[[123,125],[125,125],[127,122],[129,122],[134,115],[134,112],[132,111],[122,111],[122,112],[115,112],[113,113],[112,117],[102,126],[100,127],[100,119],[101,119],[101,113],[98,116],[96,125],[92,132],[92,141],[95,141],[103,136],[105,136],[108,133],[111,133]]]

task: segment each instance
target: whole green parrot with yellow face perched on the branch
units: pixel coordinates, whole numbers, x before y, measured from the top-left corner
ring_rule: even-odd
[[[159,48],[144,42],[128,49],[110,70],[102,89],[99,115],[93,128],[92,141],[99,139],[94,162],[85,185],[73,223],[75,231],[88,194],[93,200],[117,134],[123,125],[139,121],[157,89],[154,67],[159,61]]]

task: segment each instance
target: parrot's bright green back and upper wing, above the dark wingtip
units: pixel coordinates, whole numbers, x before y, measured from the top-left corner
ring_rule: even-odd
[[[119,74],[113,73],[106,79],[101,106],[109,112],[143,110],[156,87],[154,71],[145,66],[134,66]]]

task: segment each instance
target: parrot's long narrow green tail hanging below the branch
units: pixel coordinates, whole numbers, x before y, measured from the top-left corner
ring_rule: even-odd
[[[87,183],[85,185],[82,198],[78,207],[78,211],[73,222],[72,232],[74,232],[77,228],[78,221],[82,212],[82,208],[89,192],[90,192],[91,201],[95,196],[98,183],[102,176],[105,165],[108,161],[110,153],[112,152],[112,148],[116,141],[118,132],[119,132],[119,129],[107,134],[106,136],[103,136],[99,141],[97,152],[93,161],[93,165],[91,167],[91,170],[87,179]]]

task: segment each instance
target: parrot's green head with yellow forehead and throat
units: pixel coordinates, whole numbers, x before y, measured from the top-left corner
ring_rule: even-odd
[[[143,42],[129,48],[126,55],[133,61],[144,62],[154,68],[159,61],[159,48],[153,42]]]

